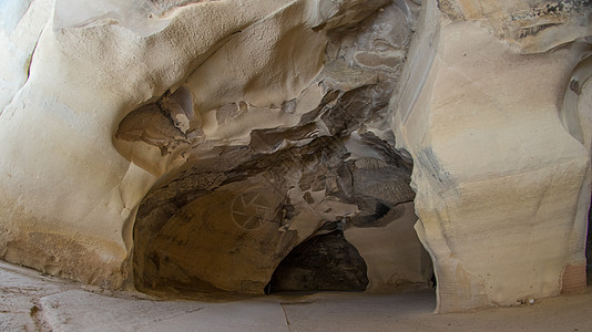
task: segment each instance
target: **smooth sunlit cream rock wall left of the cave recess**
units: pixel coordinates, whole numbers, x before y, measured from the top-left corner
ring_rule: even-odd
[[[285,6],[305,4],[314,6],[197,2],[155,18],[166,27],[143,34],[93,15],[81,27],[54,18],[38,42],[28,84],[0,118],[4,259],[120,287],[137,204],[155,176],[184,159],[112,141],[119,122],[180,84],[233,33],[273,20]],[[34,144],[25,142],[31,133],[38,133]],[[155,165],[144,167],[152,174],[120,153]]]

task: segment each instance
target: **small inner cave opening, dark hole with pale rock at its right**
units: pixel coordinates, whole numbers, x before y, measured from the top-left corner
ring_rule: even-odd
[[[279,262],[265,292],[396,293],[436,287],[431,258],[414,229],[412,201],[378,218],[367,217],[366,225],[360,219],[338,224],[296,246]]]

